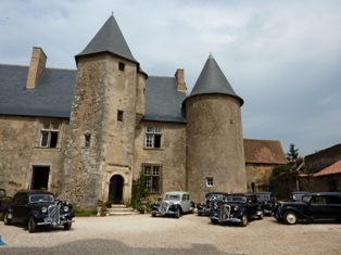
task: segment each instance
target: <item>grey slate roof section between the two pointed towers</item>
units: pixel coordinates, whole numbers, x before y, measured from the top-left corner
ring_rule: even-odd
[[[181,102],[186,93],[178,91],[175,77],[149,76],[146,80],[144,120],[186,123]]]

